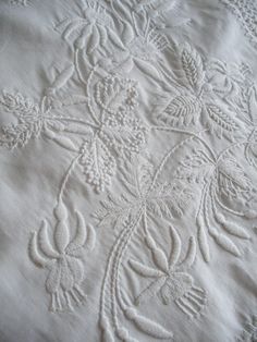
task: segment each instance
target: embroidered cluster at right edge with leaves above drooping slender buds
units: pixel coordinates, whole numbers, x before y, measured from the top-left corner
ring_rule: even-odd
[[[201,149],[194,149],[181,161],[175,178],[185,183],[185,186],[194,183],[200,185],[196,224],[204,259],[207,262],[210,259],[207,233],[222,249],[240,257],[241,251],[231,237],[248,240],[249,234],[244,227],[232,221],[229,215],[255,218],[257,212],[249,201],[255,188],[235,157],[227,149],[219,158],[208,156]]]

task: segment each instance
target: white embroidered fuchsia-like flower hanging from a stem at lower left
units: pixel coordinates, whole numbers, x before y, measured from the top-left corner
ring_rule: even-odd
[[[68,227],[68,211],[60,200],[54,209],[57,224],[52,242],[49,237],[47,221],[38,232],[34,232],[29,244],[29,255],[33,261],[49,270],[46,289],[51,295],[50,310],[73,309],[73,303],[81,305],[86,296],[82,290],[85,279],[82,258],[85,248],[95,246],[95,231],[86,227],[81,212],[76,211],[77,227],[72,239]]]

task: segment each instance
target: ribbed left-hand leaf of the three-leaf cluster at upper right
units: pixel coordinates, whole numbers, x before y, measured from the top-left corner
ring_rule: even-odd
[[[172,99],[158,119],[172,126],[196,123],[201,113],[201,102],[192,95],[180,95]]]

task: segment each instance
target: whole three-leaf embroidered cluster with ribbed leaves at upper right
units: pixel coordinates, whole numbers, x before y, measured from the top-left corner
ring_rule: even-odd
[[[222,74],[229,91],[238,81],[236,76],[225,74],[221,69],[222,63],[216,65],[217,70],[211,65],[208,72],[200,54],[188,45],[181,49],[180,63],[184,84],[180,86],[178,96],[171,100],[163,99],[162,103],[159,103],[162,110],[158,114],[158,120],[171,126],[188,126],[195,125],[200,118],[203,124],[218,137],[224,136],[233,141],[238,122],[225,103],[217,96],[213,98],[218,86],[211,72],[216,72],[215,76]]]

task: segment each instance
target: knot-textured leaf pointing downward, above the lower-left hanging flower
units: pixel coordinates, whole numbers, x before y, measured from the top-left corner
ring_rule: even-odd
[[[85,143],[84,154],[78,162],[83,167],[86,182],[96,192],[101,192],[110,185],[117,170],[115,159],[97,137]]]

